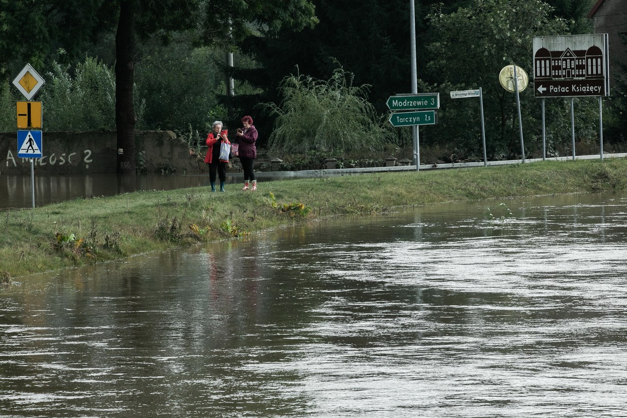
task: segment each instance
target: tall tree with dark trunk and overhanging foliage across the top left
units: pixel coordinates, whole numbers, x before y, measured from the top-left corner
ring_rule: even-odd
[[[252,31],[303,28],[316,22],[308,0],[0,0],[0,75],[19,60],[43,67],[53,51],[84,53],[85,44],[115,31],[116,122],[121,173],[135,171],[133,83],[136,39],[194,29],[197,42],[234,42]],[[23,63],[21,64],[23,65]]]

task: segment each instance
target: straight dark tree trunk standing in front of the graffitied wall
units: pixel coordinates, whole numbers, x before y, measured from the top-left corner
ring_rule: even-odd
[[[117,126],[117,171],[135,173],[135,13],[138,0],[120,1],[120,18],[115,34],[115,124]]]

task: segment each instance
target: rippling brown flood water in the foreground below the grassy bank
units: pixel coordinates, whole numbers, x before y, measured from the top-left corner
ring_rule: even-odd
[[[624,417],[626,244],[627,195],[574,195],[23,277],[0,416]]]

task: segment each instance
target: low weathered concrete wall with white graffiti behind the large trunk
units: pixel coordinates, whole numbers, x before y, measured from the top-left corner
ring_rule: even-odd
[[[187,142],[172,131],[146,131],[135,135],[137,152],[149,173],[176,169],[177,173],[204,171],[203,156],[193,154]],[[34,161],[38,173],[115,173],[115,132],[43,132],[42,157]],[[139,161],[138,161],[139,163]],[[0,133],[0,173],[29,173],[28,158],[18,158],[16,132]]]

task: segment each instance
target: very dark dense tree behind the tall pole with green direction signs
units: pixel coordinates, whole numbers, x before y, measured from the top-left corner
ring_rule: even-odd
[[[233,75],[256,87],[254,95],[238,95],[238,109],[256,109],[261,131],[273,129],[273,118],[264,114],[260,104],[280,103],[279,86],[290,75],[307,75],[329,80],[341,65],[354,75],[354,85],[368,85],[367,99],[377,112],[387,111],[389,95],[411,92],[409,62],[408,0],[312,0],[319,24],[302,31],[284,28],[265,36],[252,34],[243,42],[243,53],[255,57],[257,68],[236,68]],[[421,40],[426,26],[424,17],[438,0],[416,0],[418,70],[424,62]],[[446,0],[446,9],[455,9],[467,0]],[[280,53],[280,51],[284,51]],[[257,120],[256,120],[257,121]],[[256,122],[257,123],[257,122]],[[260,126],[258,126],[258,129]]]

